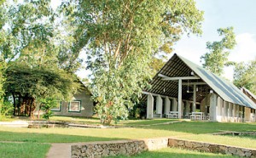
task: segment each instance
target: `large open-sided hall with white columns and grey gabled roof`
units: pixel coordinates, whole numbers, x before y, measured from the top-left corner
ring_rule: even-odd
[[[147,118],[255,121],[256,104],[231,82],[177,54],[143,91]]]

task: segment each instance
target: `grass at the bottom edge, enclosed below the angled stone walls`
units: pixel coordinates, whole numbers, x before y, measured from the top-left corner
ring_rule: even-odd
[[[127,156],[110,156],[109,158],[125,158]],[[234,158],[232,155],[221,155],[221,154],[212,154],[204,153],[199,151],[192,150],[182,150],[178,148],[165,148],[161,150],[147,151],[138,155],[132,155],[132,158],[153,158],[153,157],[178,157],[178,158],[198,158],[198,157],[222,157],[222,158]]]

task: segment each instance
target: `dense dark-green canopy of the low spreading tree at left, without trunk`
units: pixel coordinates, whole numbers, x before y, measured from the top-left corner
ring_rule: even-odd
[[[55,67],[34,67],[13,63],[6,71],[5,89],[9,93],[33,98],[70,99],[77,91],[76,76]]]

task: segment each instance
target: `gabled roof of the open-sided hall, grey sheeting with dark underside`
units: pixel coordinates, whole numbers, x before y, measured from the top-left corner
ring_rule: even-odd
[[[196,101],[201,101],[206,94],[209,92],[209,89],[212,89],[217,93],[222,99],[227,102],[240,104],[247,106],[249,108],[256,109],[256,104],[253,103],[251,99],[241,92],[234,84],[228,82],[213,74],[210,71],[203,69],[201,66],[196,65],[195,63],[185,59],[177,54],[174,54],[166,65],[154,76],[153,81],[150,82],[152,87],[146,89],[145,91],[149,93],[159,93],[166,96],[172,96],[177,98],[177,82],[175,81],[162,81],[159,74],[165,76],[191,76],[190,72],[194,71],[196,76],[199,76],[201,79],[193,82],[206,82],[206,86],[202,86],[204,92],[197,92]],[[186,81],[184,81],[186,82]],[[187,81],[191,82],[191,81]],[[165,88],[163,90],[163,88]],[[189,85],[183,86],[183,99],[192,99],[193,93],[186,93],[186,89],[189,88]]]

